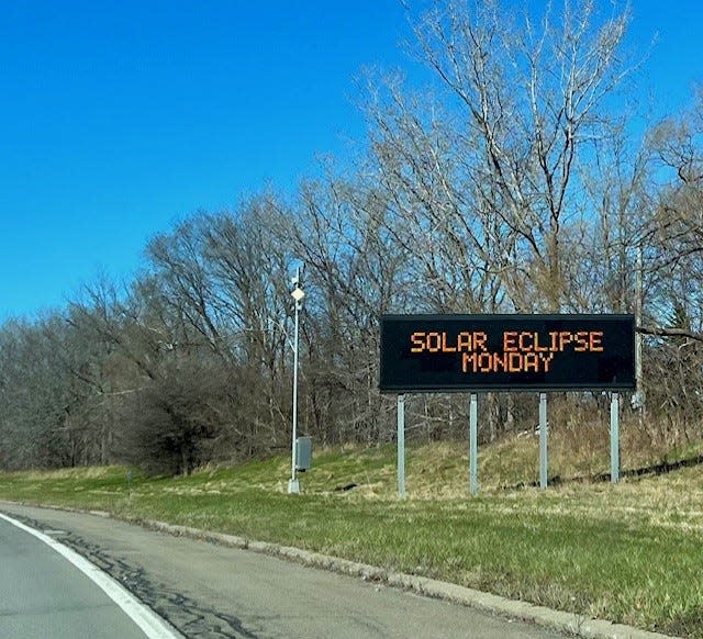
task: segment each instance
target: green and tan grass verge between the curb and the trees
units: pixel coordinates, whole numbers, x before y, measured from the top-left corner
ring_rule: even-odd
[[[535,442],[514,438],[481,450],[481,495],[469,498],[465,449],[409,448],[404,501],[395,496],[392,446],[317,453],[302,495],[286,494],[289,459],[280,457],[187,478],[135,473],[131,495],[118,467],[4,474],[0,497],[231,532],[703,637],[700,466],[616,486],[504,489],[537,475]],[[583,474],[573,458],[557,455],[550,474]],[[606,469],[607,457],[598,472],[599,464]],[[335,490],[350,482],[357,487]]]

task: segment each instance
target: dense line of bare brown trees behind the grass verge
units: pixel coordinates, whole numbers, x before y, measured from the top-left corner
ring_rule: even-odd
[[[380,314],[634,312],[638,254],[645,428],[702,437],[703,93],[645,130],[627,23],[593,2],[417,18],[433,89],[372,82],[353,169],[192,215],[127,284],[0,327],[0,468],[178,473],[288,448],[300,260],[300,423],[320,444],[393,437]],[[462,433],[464,404],[413,399],[411,436]],[[484,438],[528,425],[524,395],[488,407]]]

